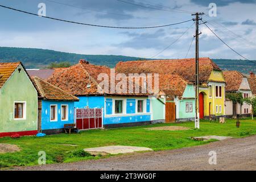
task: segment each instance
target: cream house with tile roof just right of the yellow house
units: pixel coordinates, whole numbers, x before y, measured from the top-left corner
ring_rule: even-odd
[[[238,71],[224,71],[224,77],[226,81],[226,95],[229,93],[241,92],[243,98],[251,97],[251,89],[246,76]],[[236,114],[249,115],[251,113],[251,105],[245,102],[241,105],[239,103],[233,103],[228,98],[225,102],[225,115],[235,117]]]

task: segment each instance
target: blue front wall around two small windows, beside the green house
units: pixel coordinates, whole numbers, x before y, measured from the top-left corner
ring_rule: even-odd
[[[57,121],[50,121],[51,105],[57,105]],[[68,105],[68,121],[61,121],[61,105]],[[42,100],[42,130],[62,129],[64,124],[74,123],[74,102]]]

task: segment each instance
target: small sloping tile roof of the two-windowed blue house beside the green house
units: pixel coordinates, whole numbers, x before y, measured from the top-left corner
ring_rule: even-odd
[[[64,92],[60,88],[49,84],[39,77],[31,77],[31,80],[38,91],[38,97],[55,101],[79,101],[79,98]]]

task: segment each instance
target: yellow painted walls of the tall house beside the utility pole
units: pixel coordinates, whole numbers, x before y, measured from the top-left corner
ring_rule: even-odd
[[[199,93],[204,93],[204,116],[209,116],[209,107],[210,114],[215,115],[224,115],[225,113],[225,80],[221,71],[212,71],[209,77],[209,83],[207,87],[199,88]],[[209,96],[210,87],[212,85],[212,97]],[[222,86],[221,88],[221,97],[216,97],[216,85]],[[210,103],[210,106],[209,106]],[[216,106],[218,106],[218,112],[216,113]],[[220,112],[221,106],[221,112]]]

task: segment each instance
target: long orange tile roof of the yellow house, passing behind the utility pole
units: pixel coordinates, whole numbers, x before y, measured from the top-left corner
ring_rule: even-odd
[[[221,71],[209,57],[201,57],[199,59],[199,80],[201,82],[208,81],[213,70]],[[125,74],[175,74],[182,76],[185,80],[195,81],[195,59],[125,61],[119,62],[115,66],[115,71]]]

